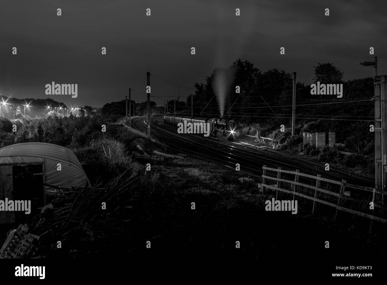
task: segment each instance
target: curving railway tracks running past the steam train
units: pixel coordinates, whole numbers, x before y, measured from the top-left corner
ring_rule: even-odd
[[[140,118],[141,119],[141,118]],[[143,129],[137,119],[134,121],[134,127],[137,130]],[[147,119],[142,118],[144,124]],[[344,179],[348,183],[361,186],[373,187],[374,182],[361,176],[346,173],[337,169],[330,169],[329,174],[325,171],[325,166],[315,162],[306,161],[288,154],[276,152],[274,150],[257,147],[248,143],[234,142],[235,145],[229,145],[228,142],[211,137],[201,137],[194,134],[178,134],[176,127],[164,124],[160,117],[151,118],[152,129],[163,135],[173,138],[173,142],[158,140],[166,143],[171,149],[186,153],[206,161],[216,161],[224,166],[235,169],[235,164],[239,163],[241,168],[246,169],[248,174],[259,176],[262,174],[262,166],[266,164],[270,167],[281,167],[282,169],[299,169],[307,174],[321,174],[322,177],[334,180]]]

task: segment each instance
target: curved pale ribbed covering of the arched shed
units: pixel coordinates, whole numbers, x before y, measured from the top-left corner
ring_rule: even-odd
[[[42,163],[44,180],[48,185],[71,188],[89,182],[75,154],[65,147],[51,143],[17,143],[0,149],[0,167]],[[57,164],[62,170],[57,170]],[[46,187],[48,190],[50,187]],[[1,189],[0,189],[1,190]]]

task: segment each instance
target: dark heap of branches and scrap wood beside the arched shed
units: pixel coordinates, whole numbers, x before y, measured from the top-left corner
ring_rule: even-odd
[[[85,185],[78,192],[58,190],[41,209],[38,221],[9,231],[0,258],[76,257],[98,251],[93,242],[128,231],[133,220],[149,219],[146,210],[133,211],[142,203],[139,183],[139,175],[128,169],[103,188]],[[66,250],[58,250],[59,242]]]

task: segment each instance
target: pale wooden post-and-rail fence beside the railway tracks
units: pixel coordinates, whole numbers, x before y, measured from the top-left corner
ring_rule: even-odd
[[[299,197],[303,197],[303,198],[309,199],[309,200],[312,200],[313,201],[312,214],[315,213],[315,209],[316,209],[316,206],[317,206],[315,204],[316,204],[316,202],[318,202],[318,203],[321,203],[321,204],[324,204],[324,205],[336,208],[336,214],[335,214],[335,217],[334,217],[335,219],[336,219],[336,216],[337,216],[337,211],[341,210],[341,211],[348,212],[348,213],[351,213],[351,214],[355,214],[355,215],[358,215],[358,216],[361,216],[361,217],[364,217],[364,218],[368,218],[368,219],[371,219],[371,220],[379,221],[381,223],[387,223],[387,219],[384,219],[384,218],[381,218],[381,217],[378,217],[378,216],[374,216],[374,210],[370,209],[370,202],[374,202],[373,203],[374,208],[376,207],[376,208],[379,208],[379,209],[382,209],[382,210],[387,209],[387,207],[385,207],[385,206],[383,206],[381,204],[378,204],[377,202],[374,201],[375,200],[375,193],[380,193],[380,194],[383,194],[383,195],[387,195],[387,192],[377,191],[377,190],[375,190],[375,188],[363,187],[363,186],[349,184],[345,180],[336,181],[336,180],[330,180],[330,179],[322,178],[320,174],[318,174],[317,176],[313,176],[313,175],[309,175],[309,174],[304,174],[304,173],[300,173],[299,170],[288,171],[288,170],[282,170],[281,168],[278,168],[278,169],[276,169],[276,168],[269,168],[269,167],[266,167],[266,165],[264,165],[262,167],[262,169],[263,169],[263,174],[262,174],[262,187],[263,187],[263,191],[265,191],[265,188],[270,188],[270,189],[276,190],[276,200],[277,200],[277,197],[278,197],[278,191],[281,191],[281,192],[293,194],[293,200],[295,198],[295,195],[297,195]],[[275,171],[277,173],[277,177],[268,176],[266,171]],[[281,174],[282,173],[293,174],[293,175],[295,175],[295,179],[294,180],[283,179],[283,178],[281,178]],[[314,182],[313,183],[314,185],[309,185],[307,183],[299,182],[300,177],[301,178],[312,179],[313,182]],[[273,181],[276,181],[276,182],[275,182],[275,184],[271,184],[271,183],[269,183],[269,180],[273,180]],[[326,185],[325,189],[322,189],[321,182],[328,183]],[[288,185],[286,185],[286,184],[288,184]],[[288,186],[288,187],[286,187],[286,186]],[[314,190],[314,195],[313,196],[309,196],[309,195],[306,195],[304,193],[297,192],[298,188],[300,188],[300,187],[305,187],[307,189],[310,189],[310,190],[312,190],[312,192]],[[284,188],[288,188],[288,189],[284,189]],[[360,191],[365,191],[365,192],[372,192],[372,200],[371,201],[367,201],[367,200],[364,200],[364,199],[357,199],[357,198],[351,197],[350,196],[350,192],[349,192],[350,189],[360,190]],[[332,191],[332,190],[337,190],[337,192]],[[320,193],[328,194],[328,197],[332,197],[332,196],[333,197],[337,197],[337,204],[332,203],[332,201],[322,200],[321,199],[322,197],[319,197]],[[354,210],[354,209],[349,209],[348,207],[343,207],[342,206],[343,200],[349,200],[349,201],[353,201],[353,202],[358,202],[358,203],[363,204],[363,205],[366,204],[366,208],[369,209],[369,211],[372,211],[372,214],[360,212],[360,211]]]

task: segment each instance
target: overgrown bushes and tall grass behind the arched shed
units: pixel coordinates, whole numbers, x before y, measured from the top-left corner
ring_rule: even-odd
[[[14,125],[17,131],[13,131]],[[102,131],[103,125],[106,132]],[[132,169],[144,176],[144,188],[148,187],[148,176],[128,152],[137,144],[156,148],[144,134],[101,116],[0,118],[0,148],[26,142],[53,143],[69,148],[84,162],[83,168],[92,185],[106,183]],[[157,177],[149,179],[149,183],[155,183]]]

